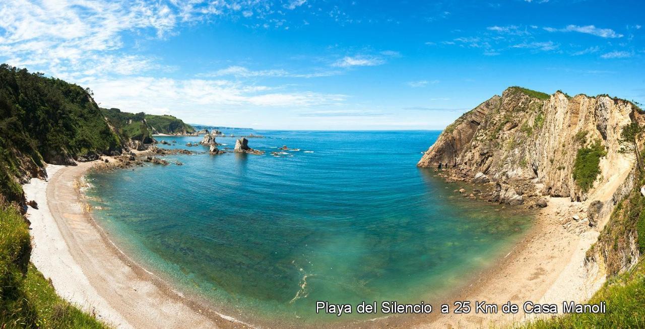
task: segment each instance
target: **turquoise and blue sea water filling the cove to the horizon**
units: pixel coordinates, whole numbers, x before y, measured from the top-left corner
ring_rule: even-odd
[[[508,252],[530,221],[416,168],[439,132],[253,134],[266,136],[249,140],[265,155],[172,155],[184,165],[88,175],[95,217],[118,244],[234,317],[342,321],[316,315],[315,301],[430,302]],[[208,150],[185,146],[199,137],[158,139]],[[283,145],[300,151],[270,154]]]

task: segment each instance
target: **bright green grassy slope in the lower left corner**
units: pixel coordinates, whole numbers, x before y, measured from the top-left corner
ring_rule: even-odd
[[[108,328],[61,299],[29,262],[30,252],[23,216],[0,205],[0,328]]]

